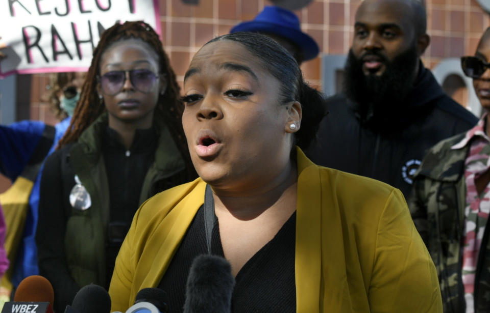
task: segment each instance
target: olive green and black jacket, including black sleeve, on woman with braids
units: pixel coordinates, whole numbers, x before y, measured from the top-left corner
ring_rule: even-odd
[[[70,304],[78,289],[86,284],[108,285],[109,183],[101,150],[107,125],[107,113],[104,113],[75,144],[55,151],[46,161],[45,170],[51,171],[48,171],[50,175],[44,172],[41,181],[41,191],[44,188],[45,192],[40,200],[36,242],[40,274],[52,282],[58,310]],[[186,163],[161,119],[155,119],[154,127],[159,136],[155,161],[141,186],[140,204],[157,192],[194,178],[185,169]],[[75,175],[91,197],[91,206],[85,211],[72,208],[68,202]],[[64,249],[53,249],[56,240],[56,245],[63,245]]]

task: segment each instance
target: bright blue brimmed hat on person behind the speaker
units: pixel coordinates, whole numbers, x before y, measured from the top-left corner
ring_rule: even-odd
[[[230,34],[237,32],[271,33],[284,37],[301,49],[305,61],[315,58],[320,52],[315,40],[301,31],[298,16],[276,6],[264,7],[254,20],[234,26]]]

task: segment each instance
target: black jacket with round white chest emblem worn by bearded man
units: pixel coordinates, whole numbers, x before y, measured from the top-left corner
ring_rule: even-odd
[[[307,156],[318,165],[388,183],[408,198],[425,152],[478,119],[447,96],[424,67],[407,100],[393,105],[397,113],[362,118],[358,104],[345,94],[334,95]]]

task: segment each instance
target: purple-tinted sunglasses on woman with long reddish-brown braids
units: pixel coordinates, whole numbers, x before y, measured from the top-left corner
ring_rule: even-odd
[[[104,95],[113,96],[121,91],[126,82],[126,73],[133,87],[142,93],[150,93],[157,82],[157,78],[164,74],[155,74],[150,70],[111,71],[99,76],[101,90]]]

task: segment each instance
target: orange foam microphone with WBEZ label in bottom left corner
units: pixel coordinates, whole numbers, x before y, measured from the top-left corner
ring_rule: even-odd
[[[49,280],[28,276],[19,283],[14,301],[5,302],[2,313],[53,313],[54,295]]]

